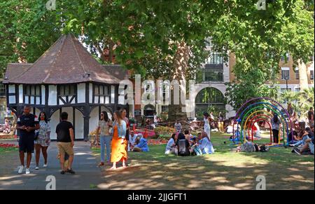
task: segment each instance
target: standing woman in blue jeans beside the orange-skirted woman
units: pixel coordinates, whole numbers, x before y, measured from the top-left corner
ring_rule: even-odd
[[[99,163],[99,166],[104,165],[105,163],[105,146],[106,146],[106,161],[107,163],[110,163],[111,158],[111,134],[109,132],[109,129],[112,126],[111,119],[109,118],[109,115],[106,111],[101,112],[101,120],[99,120],[99,123],[97,124],[97,133],[96,137],[98,140],[98,137],[100,135],[100,142],[101,142],[101,163]]]

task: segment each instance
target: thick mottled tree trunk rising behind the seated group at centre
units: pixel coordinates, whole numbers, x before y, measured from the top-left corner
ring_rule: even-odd
[[[188,68],[189,60],[189,47],[185,42],[179,43],[176,54],[174,56],[173,68],[174,75],[171,80],[177,80],[181,83],[181,80],[186,80],[186,70]],[[181,89],[180,89],[181,90]],[[181,90],[182,91],[182,90]],[[179,94],[180,95],[180,94]],[[171,104],[169,104],[169,121],[186,121],[187,113],[182,110],[182,107],[186,107],[186,104],[181,104],[179,99],[179,104],[174,104],[174,88],[171,90]],[[182,124],[184,125],[184,124]]]

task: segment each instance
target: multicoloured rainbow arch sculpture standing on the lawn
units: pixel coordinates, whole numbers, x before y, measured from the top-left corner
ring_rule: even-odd
[[[292,128],[289,127],[289,124],[290,126],[292,124],[292,121],[290,121],[290,114],[288,114],[288,111],[286,111],[279,102],[276,102],[276,100],[272,100],[269,97],[255,97],[251,100],[247,100],[241,105],[235,115],[235,119],[232,121],[232,141],[235,141],[235,132],[238,132],[238,137],[241,137],[241,142],[246,142],[246,136],[244,135],[246,132],[248,132],[248,138],[251,138],[253,141],[254,123],[257,121],[265,121],[270,128],[269,144],[272,144],[271,124],[269,123],[269,120],[272,118],[271,113],[279,116],[282,125],[283,145],[288,145],[288,135],[290,132],[291,134],[293,132]],[[237,128],[235,128],[235,125],[237,125]],[[250,129],[252,130],[251,132]],[[280,138],[277,145],[281,145]]]

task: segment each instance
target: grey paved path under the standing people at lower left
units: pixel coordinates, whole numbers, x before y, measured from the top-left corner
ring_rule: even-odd
[[[43,168],[43,156],[41,155],[39,170],[35,168],[35,158],[31,159],[31,173],[18,175],[18,167],[13,166],[12,173],[0,175],[0,190],[2,189],[41,189],[45,190],[46,177],[55,176],[56,189],[97,189],[97,185],[104,182],[101,169],[97,168],[97,161],[92,155],[90,144],[87,142],[75,142],[73,170],[75,175],[60,174],[59,160],[57,160],[56,142],[52,142],[48,148],[48,168]],[[18,159],[18,154],[17,154]],[[16,163],[16,162],[15,162]]]

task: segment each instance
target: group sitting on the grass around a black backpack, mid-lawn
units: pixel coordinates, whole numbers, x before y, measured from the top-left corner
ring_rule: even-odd
[[[191,135],[189,130],[186,130],[184,133],[172,134],[171,139],[167,143],[165,154],[176,154],[178,156],[214,154],[214,147],[207,132],[199,133],[198,137]]]

